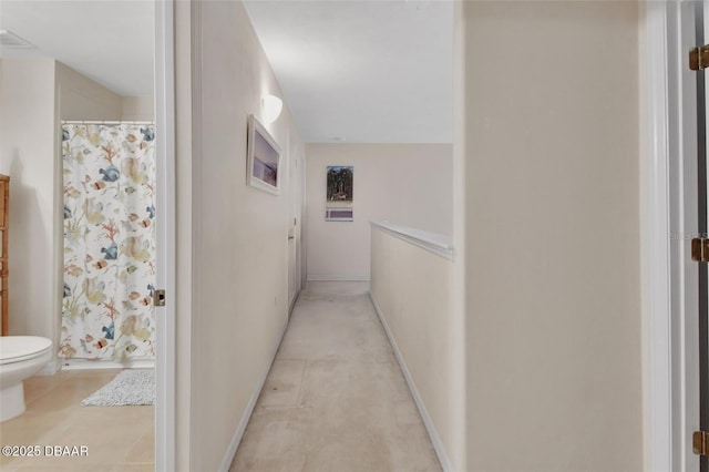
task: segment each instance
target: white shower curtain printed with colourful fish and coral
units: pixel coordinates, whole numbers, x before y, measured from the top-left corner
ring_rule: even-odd
[[[155,353],[154,137],[152,124],[62,126],[62,357]]]

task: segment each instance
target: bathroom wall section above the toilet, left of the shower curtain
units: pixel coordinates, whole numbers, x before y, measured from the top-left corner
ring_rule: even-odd
[[[10,175],[10,335],[56,341],[54,61],[2,61],[0,173]]]

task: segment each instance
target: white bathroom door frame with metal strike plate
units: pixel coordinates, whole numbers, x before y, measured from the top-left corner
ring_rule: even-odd
[[[155,308],[155,470],[175,470],[175,61],[174,1],[154,0],[155,133],[157,163],[156,287],[167,300]]]

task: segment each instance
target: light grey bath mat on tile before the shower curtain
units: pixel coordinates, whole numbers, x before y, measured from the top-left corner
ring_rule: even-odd
[[[155,404],[155,370],[124,370],[81,402],[82,407],[127,404]]]

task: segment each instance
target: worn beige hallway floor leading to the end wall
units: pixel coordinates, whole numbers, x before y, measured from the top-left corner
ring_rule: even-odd
[[[230,472],[441,470],[368,289],[308,283]]]

